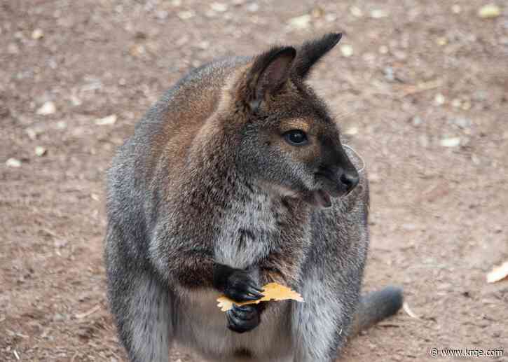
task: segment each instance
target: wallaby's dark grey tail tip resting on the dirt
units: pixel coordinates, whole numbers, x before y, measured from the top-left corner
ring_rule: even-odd
[[[392,316],[401,306],[402,289],[395,286],[387,286],[380,291],[363,295],[355,314],[351,335],[357,335],[387,316]]]

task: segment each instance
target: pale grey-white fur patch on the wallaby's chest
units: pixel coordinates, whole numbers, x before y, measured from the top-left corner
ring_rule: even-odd
[[[278,218],[279,205],[265,194],[232,204],[214,240],[217,262],[243,269],[267,256],[280,239]]]

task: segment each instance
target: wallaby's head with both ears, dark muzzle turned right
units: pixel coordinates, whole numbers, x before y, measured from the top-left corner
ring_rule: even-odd
[[[235,87],[241,125],[237,164],[285,195],[322,207],[350,193],[359,175],[341,144],[338,125],[305,80],[313,65],[341,39],[272,48],[254,58]]]

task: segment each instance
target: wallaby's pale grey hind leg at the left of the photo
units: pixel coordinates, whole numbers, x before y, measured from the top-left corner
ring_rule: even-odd
[[[121,253],[111,255],[108,260],[106,252],[109,303],[129,361],[167,362],[173,334],[169,291],[142,267],[124,268],[128,261],[118,260]]]

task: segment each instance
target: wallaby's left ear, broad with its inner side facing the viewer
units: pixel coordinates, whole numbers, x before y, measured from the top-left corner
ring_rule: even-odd
[[[275,95],[289,78],[296,56],[292,47],[273,48],[256,57],[247,76],[247,102],[256,110],[267,97]]]

